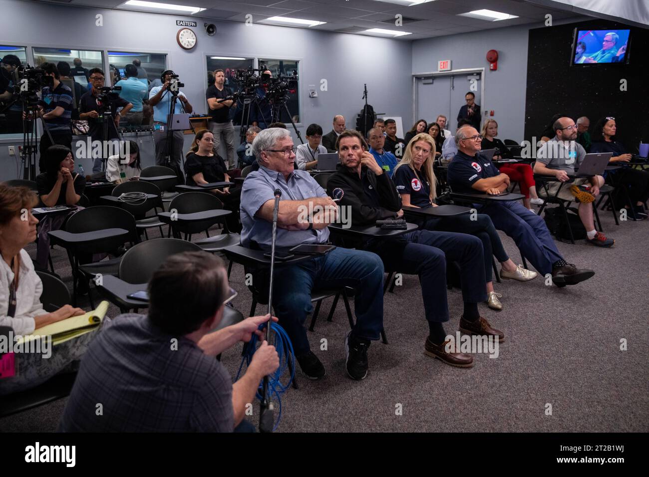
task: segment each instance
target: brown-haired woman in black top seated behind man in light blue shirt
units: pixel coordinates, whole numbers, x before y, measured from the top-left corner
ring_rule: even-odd
[[[225,161],[214,149],[214,134],[208,129],[196,133],[191,149],[186,155],[186,185],[211,184],[212,182],[229,182],[228,168]],[[239,232],[239,202],[241,188],[223,188],[205,190],[214,193],[223,202],[226,210],[231,210],[227,223],[231,232]]]

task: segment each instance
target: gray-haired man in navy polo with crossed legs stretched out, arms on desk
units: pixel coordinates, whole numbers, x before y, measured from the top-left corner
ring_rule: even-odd
[[[508,175],[501,174],[491,160],[480,154],[481,141],[482,136],[474,127],[464,126],[456,132],[458,154],[448,164],[447,173],[452,191],[498,194],[507,190]],[[491,217],[498,230],[514,239],[520,252],[540,273],[552,273],[557,286],[578,284],[595,274],[566,262],[543,219],[519,202],[489,201],[475,206],[481,214]]]

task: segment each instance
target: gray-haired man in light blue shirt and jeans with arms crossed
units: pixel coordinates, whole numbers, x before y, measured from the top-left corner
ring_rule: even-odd
[[[247,175],[241,191],[241,244],[245,247],[270,249],[275,190],[282,192],[277,215],[278,249],[328,242],[327,226],[336,218],[332,211],[337,212],[337,204],[308,172],[293,168],[295,149],[291,134],[282,128],[262,130],[252,142],[260,168]],[[304,330],[304,321],[313,310],[311,293],[345,286],[356,290],[356,324],[345,337],[345,367],[351,378],[367,376],[367,349],[383,329],[383,273],[383,262],[376,254],[338,247],[284,266],[281,274],[276,274],[275,313],[306,376],[320,379],[325,374]],[[267,276],[259,271],[253,280],[258,289],[264,289]]]

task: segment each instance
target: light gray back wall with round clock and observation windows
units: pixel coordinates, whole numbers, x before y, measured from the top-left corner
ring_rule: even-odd
[[[0,0],[0,12],[0,44],[167,53],[167,67],[185,83],[183,92],[195,112],[206,112],[205,56],[214,55],[300,60],[302,138],[310,123],[319,123],[325,134],[329,132],[335,114],[343,114],[348,125],[355,127],[363,106],[363,83],[367,83],[374,110],[412,116],[411,42],[29,1]],[[95,26],[96,14],[103,14],[103,27]],[[192,28],[198,36],[192,51],[184,51],[176,42],[177,19],[198,22]],[[207,36],[203,23],[215,23],[217,34]],[[369,55],[371,51],[376,54]],[[321,79],[327,80],[328,91],[318,90],[317,98],[309,98],[308,85],[319,86]],[[0,140],[0,180],[15,175],[9,144]]]

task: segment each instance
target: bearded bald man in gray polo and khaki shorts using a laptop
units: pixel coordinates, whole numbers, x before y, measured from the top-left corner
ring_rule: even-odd
[[[575,178],[570,186],[564,184],[574,175],[575,165],[582,164],[586,156],[583,146],[576,142],[577,125],[569,117],[559,117],[553,126],[556,135],[543,143],[537,152],[534,173],[556,177],[559,182],[550,182],[545,187],[537,188],[541,199],[557,198],[564,201],[579,202],[579,217],[586,229],[587,243],[598,247],[611,247],[615,240],[606,238],[595,230],[593,205],[591,202],[600,193],[604,177],[593,176]]]

